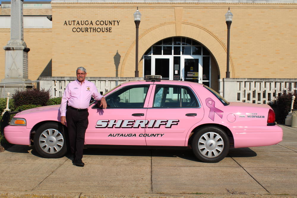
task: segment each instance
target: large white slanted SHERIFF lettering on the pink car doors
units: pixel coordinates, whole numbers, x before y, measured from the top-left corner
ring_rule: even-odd
[[[98,120],[96,128],[171,128],[178,125],[179,120]]]

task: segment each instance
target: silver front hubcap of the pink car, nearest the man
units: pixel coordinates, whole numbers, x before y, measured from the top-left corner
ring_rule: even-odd
[[[56,129],[46,129],[39,137],[39,146],[45,153],[57,153],[63,145],[64,137]]]

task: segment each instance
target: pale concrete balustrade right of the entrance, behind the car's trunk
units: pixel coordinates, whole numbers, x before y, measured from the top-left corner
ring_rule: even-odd
[[[219,92],[229,102],[274,103],[277,96],[292,91],[296,94],[297,79],[291,78],[223,78]]]

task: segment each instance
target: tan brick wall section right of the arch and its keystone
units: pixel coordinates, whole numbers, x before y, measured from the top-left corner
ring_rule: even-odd
[[[234,15],[230,29],[233,77],[295,78],[296,4],[228,4],[191,8],[184,9],[184,18],[206,27],[227,45],[223,15],[228,6]]]

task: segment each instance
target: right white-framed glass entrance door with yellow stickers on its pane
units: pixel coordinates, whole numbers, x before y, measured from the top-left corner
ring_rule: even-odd
[[[184,58],[183,79],[195,83],[202,83],[201,58],[189,56]]]

